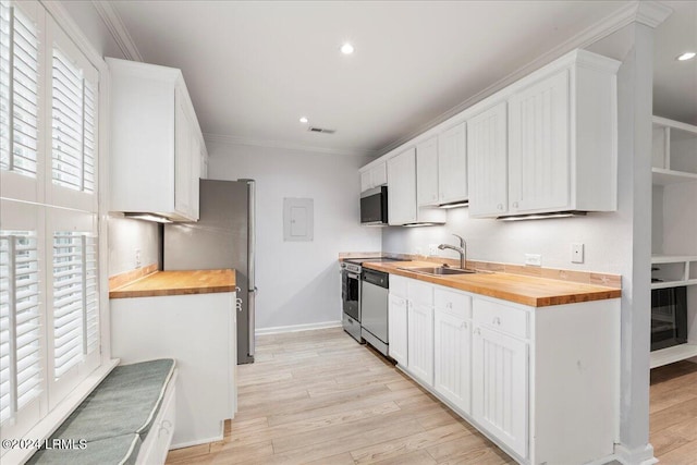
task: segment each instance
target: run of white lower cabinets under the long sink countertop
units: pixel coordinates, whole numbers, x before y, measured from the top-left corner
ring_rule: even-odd
[[[390,355],[518,463],[613,454],[619,298],[535,308],[392,274]]]

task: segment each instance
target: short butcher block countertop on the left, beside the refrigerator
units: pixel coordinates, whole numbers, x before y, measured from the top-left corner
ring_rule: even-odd
[[[157,271],[109,292],[110,298],[235,291],[235,270]]]

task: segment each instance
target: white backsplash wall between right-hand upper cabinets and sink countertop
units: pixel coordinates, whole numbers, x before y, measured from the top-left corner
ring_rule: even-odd
[[[453,233],[465,238],[467,260],[524,265],[525,254],[538,254],[542,268],[622,274],[623,260],[632,256],[631,224],[617,213],[503,222],[470,219],[467,208],[449,210],[442,227],[384,228],[382,252],[457,258],[454,252],[437,248],[456,245]],[[572,243],[585,245],[583,264],[571,262]]]

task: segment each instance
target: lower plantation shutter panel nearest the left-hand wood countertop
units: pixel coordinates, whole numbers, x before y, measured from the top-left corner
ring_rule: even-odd
[[[99,347],[97,238],[53,235],[53,376],[59,379]]]

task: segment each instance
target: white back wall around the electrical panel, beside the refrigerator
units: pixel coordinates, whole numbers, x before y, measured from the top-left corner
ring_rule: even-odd
[[[363,157],[207,142],[210,179],[257,181],[257,329],[341,320],[340,252],[379,252],[359,225]],[[314,199],[313,242],[283,242],[283,198]]]

